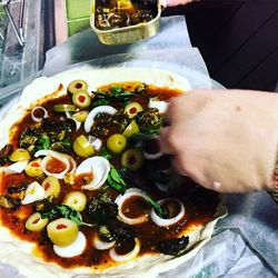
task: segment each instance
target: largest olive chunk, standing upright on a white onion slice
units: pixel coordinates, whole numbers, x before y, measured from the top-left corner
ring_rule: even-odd
[[[47,232],[54,245],[69,246],[77,239],[78,226],[67,218],[59,218],[48,225]]]

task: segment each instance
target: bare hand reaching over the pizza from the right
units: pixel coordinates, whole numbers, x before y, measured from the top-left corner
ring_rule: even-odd
[[[196,90],[172,98],[161,149],[181,175],[220,192],[271,189],[278,96]]]

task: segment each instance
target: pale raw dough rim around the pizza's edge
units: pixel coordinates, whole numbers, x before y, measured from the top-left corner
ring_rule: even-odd
[[[190,90],[187,79],[160,69],[93,69],[86,67],[64,71],[50,78],[41,77],[26,87],[19,102],[0,121],[0,149],[9,142],[9,131],[12,125],[26,115],[27,109],[39,105],[48,98],[52,98],[52,93],[57,91],[60,85],[63,85],[63,89],[59,91],[59,96],[67,93],[67,85],[75,79],[86,80],[89,83],[88,89],[92,90],[103,85],[123,81],[141,81],[157,87],[168,87],[182,91]],[[0,226],[0,261],[17,268],[19,274],[27,278],[32,278],[34,274],[40,274],[41,278],[81,278],[91,274],[93,274],[93,277],[155,277],[156,274],[173,269],[192,258],[211,238],[218,219],[225,215],[226,209],[219,205],[216,219],[206,226],[191,227],[191,230],[185,234],[185,236],[189,236],[189,251],[181,257],[175,258],[161,254],[145,255],[105,270],[96,270],[93,267],[64,269],[53,262],[46,262],[38,256],[34,256],[34,244],[20,240],[6,227]]]

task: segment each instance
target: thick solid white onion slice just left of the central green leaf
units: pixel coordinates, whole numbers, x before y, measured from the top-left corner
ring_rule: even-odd
[[[87,158],[85,161],[82,161],[77,170],[76,175],[80,173],[92,173],[92,181],[89,185],[82,186],[82,189],[87,190],[96,190],[100,188],[107,180],[108,173],[110,171],[110,163],[109,161],[103,157],[90,157]]]

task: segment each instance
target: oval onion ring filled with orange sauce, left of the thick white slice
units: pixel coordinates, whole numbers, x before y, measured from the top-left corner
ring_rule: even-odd
[[[42,160],[41,160],[41,169],[42,171],[47,175],[47,176],[53,176],[57,179],[63,179],[66,173],[69,171],[70,169],[70,161],[69,161],[69,156],[68,155],[63,155],[60,153],[58,151],[53,151],[53,150],[39,150],[34,153],[34,157],[40,157],[40,156],[46,156]],[[62,170],[61,172],[50,172],[47,170],[47,165],[51,161],[52,158],[56,158],[58,160],[60,160],[62,163],[64,163],[64,170]]]

